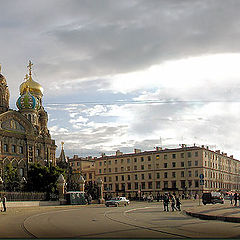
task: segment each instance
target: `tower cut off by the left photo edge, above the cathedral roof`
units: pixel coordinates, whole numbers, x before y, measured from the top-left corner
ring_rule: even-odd
[[[0,65],[0,114],[9,110],[9,90],[6,78],[1,73]]]

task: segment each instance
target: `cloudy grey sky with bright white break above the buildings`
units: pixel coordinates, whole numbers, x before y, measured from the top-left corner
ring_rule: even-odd
[[[240,159],[239,0],[0,0],[16,108],[33,62],[72,157],[205,145]]]

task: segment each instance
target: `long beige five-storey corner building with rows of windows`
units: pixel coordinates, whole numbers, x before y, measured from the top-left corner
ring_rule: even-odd
[[[104,193],[139,197],[170,191],[194,195],[201,191],[239,191],[240,162],[208,147],[182,145],[154,151],[102,155],[95,158],[95,178]],[[203,180],[202,180],[203,177]]]

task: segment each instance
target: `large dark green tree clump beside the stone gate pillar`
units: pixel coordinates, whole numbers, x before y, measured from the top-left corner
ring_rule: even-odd
[[[48,196],[57,192],[57,180],[64,170],[55,166],[31,164],[28,170],[26,191],[46,192]]]

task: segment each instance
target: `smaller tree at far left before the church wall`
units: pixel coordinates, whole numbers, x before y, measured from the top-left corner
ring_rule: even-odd
[[[18,170],[12,166],[12,164],[8,164],[5,167],[4,171],[4,189],[6,191],[19,191],[20,190],[20,178],[18,175]]]

